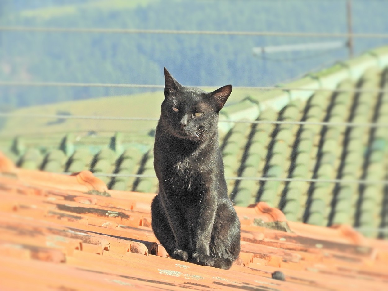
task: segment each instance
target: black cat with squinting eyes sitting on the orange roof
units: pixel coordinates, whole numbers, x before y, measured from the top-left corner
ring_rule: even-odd
[[[154,144],[155,236],[171,258],[223,269],[240,252],[240,221],[218,149],[218,112],[231,92],[231,85],[211,93],[182,86],[165,68]]]

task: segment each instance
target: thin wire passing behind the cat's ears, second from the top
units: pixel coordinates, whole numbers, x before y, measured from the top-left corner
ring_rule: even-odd
[[[117,88],[157,88],[162,89],[164,85],[147,84],[111,84],[111,83],[68,83],[68,82],[24,82],[24,81],[0,81],[0,86],[25,86],[25,87],[117,87]],[[219,88],[219,86],[200,86],[203,88]],[[354,92],[354,93],[388,93],[387,89],[368,88],[303,88],[303,87],[260,87],[260,86],[234,86],[240,90],[296,90],[296,91],[324,91],[324,92]]]

